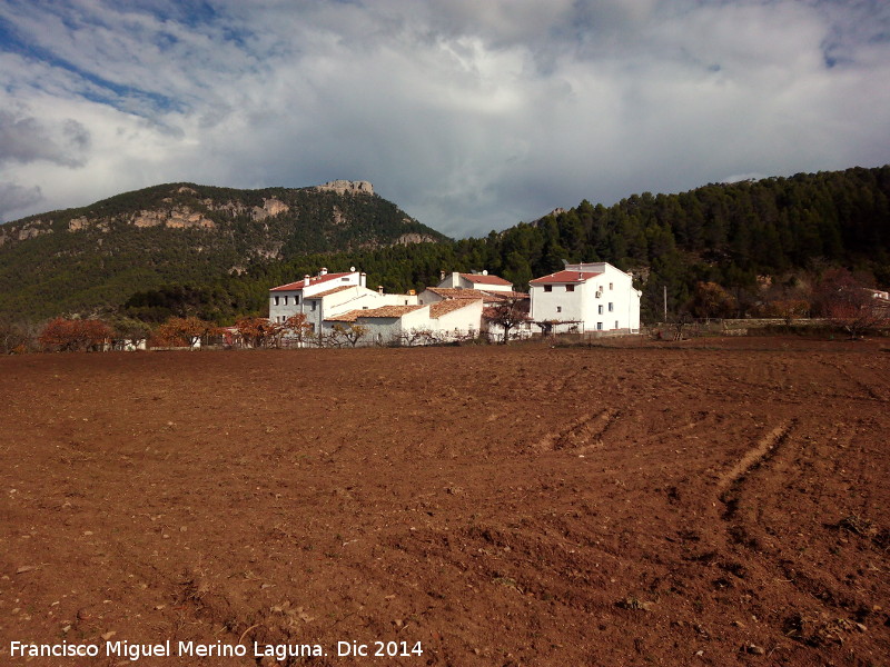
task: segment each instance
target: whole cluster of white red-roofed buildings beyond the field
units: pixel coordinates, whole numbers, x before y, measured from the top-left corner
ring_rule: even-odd
[[[419,293],[370,289],[352,270],[280,285],[269,290],[269,321],[298,321],[300,341],[338,336],[350,345],[425,345],[473,339],[494,342],[535,332],[631,334],[640,329],[641,292],[630,273],[607,262],[566,263],[530,282],[528,293],[487,271],[445,272]]]

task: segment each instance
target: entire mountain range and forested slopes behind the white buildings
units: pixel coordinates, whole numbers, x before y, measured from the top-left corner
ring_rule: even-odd
[[[406,245],[407,243],[407,245]],[[158,186],[0,226],[0,315],[100,305],[162,321],[263,315],[268,289],[360,267],[368,285],[422,289],[439,270],[487,269],[518,288],[562,260],[633,271],[643,317],[680,312],[701,283],[758,312],[763,286],[812,287],[844,267],[890,287],[890,166],[711,183],[675,195],[582,201],[487,237],[449,241],[364,182],[227,190]]]

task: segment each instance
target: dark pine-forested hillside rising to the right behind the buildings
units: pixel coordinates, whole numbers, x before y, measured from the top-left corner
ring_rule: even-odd
[[[744,316],[764,282],[759,276],[791,285],[837,266],[890,285],[889,200],[890,167],[881,167],[634,195],[611,207],[583,201],[486,238],[267,262],[208,285],[141,292],[129,306],[152,319],[176,312],[226,321],[236,313],[263,313],[269,287],[320,266],[360,267],[369,286],[404,291],[437,282],[439,270],[473,269],[525,288],[566,259],[605,260],[633,271],[644,291],[644,317],[661,313],[665,287],[676,312],[702,282],[722,286],[733,295],[736,315]]]

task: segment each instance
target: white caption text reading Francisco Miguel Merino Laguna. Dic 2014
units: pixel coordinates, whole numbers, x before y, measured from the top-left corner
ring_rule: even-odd
[[[105,653],[100,653],[105,648]],[[176,653],[174,653],[176,648]],[[177,641],[170,639],[160,644],[130,644],[126,640],[106,641],[105,647],[100,644],[27,644],[22,641],[10,641],[9,655],[12,658],[95,658],[99,655],[106,657],[115,656],[129,658],[132,661],[139,658],[164,658],[164,657],[219,657],[234,658],[250,656],[253,658],[270,657],[278,661],[287,658],[324,657],[327,655],[320,644],[259,644],[254,641],[249,647],[241,644],[198,644],[197,641]],[[418,657],[423,655],[421,643],[409,641],[373,641],[370,644],[359,644],[357,641],[337,641],[338,657],[343,656],[368,656],[368,657]]]

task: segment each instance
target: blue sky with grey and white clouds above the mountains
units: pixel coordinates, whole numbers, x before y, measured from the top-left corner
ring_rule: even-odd
[[[0,220],[368,180],[452,237],[890,162],[887,0],[0,0]]]

